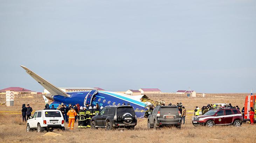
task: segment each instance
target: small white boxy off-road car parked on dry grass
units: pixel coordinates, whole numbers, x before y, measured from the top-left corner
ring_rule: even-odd
[[[64,119],[59,110],[38,110],[27,121],[27,132],[53,131],[54,129],[65,130]]]

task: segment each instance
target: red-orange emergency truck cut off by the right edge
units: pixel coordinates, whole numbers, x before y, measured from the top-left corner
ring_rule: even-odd
[[[256,95],[247,95],[245,97],[245,102],[244,102],[244,121],[250,121],[249,118],[249,113],[250,113],[250,108],[252,107],[254,110],[256,109]],[[254,122],[256,121],[256,116],[254,115]]]

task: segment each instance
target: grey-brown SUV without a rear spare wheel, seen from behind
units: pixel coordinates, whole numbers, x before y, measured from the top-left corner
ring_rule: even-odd
[[[159,128],[163,126],[181,127],[181,113],[177,106],[157,106],[148,116],[147,127]]]

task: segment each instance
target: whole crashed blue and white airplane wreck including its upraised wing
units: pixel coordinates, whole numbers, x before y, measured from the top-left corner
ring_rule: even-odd
[[[99,106],[108,106],[108,105],[122,105],[125,103],[126,105],[130,103],[133,107],[134,111],[136,111],[136,115],[138,118],[143,118],[145,111],[147,111],[147,106],[152,105],[149,101],[144,101],[143,99],[148,98],[145,95],[139,96],[129,96],[123,93],[118,92],[110,92],[110,91],[77,91],[77,92],[64,92],[61,89],[57,88],[53,84],[44,80],[39,75],[35,74],[30,69],[25,66],[21,66],[26,72],[32,76],[39,84],[41,84],[45,89],[47,89],[50,94],[46,95],[46,98],[53,100],[51,105],[58,106],[58,104],[79,104],[81,106],[85,106],[89,104],[91,106],[95,106],[99,104]],[[143,100],[143,101],[141,101]],[[153,101],[153,100],[152,100]],[[159,103],[162,103],[160,101]],[[154,104],[154,103],[153,103]]]

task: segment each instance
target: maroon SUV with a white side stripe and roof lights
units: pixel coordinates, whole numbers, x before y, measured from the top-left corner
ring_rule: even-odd
[[[234,125],[240,127],[243,122],[241,112],[235,108],[213,109],[201,116],[193,118],[194,126],[203,125],[213,127],[214,125]]]

